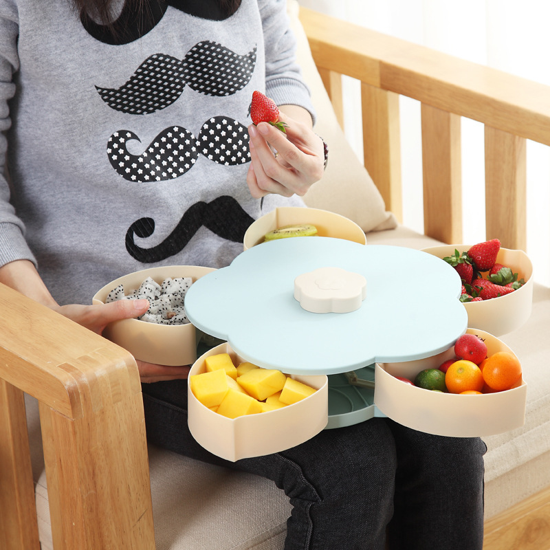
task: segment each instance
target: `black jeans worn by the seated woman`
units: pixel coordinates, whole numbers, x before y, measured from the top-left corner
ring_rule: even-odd
[[[390,419],[324,430],[292,449],[234,463],[187,426],[187,382],[144,384],[149,441],[270,478],[292,504],[285,550],[481,550],[481,439],[440,437]],[[386,529],[387,528],[387,529]]]

